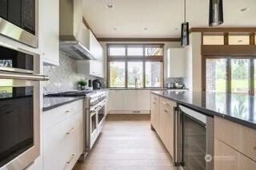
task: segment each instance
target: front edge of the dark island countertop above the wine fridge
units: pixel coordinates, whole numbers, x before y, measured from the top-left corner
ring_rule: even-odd
[[[221,118],[223,118],[223,119],[226,119],[227,121],[232,121],[232,122],[234,122],[234,123],[236,123],[236,124],[239,124],[239,125],[242,125],[242,126],[246,126],[247,128],[254,128],[254,129],[256,130],[256,125],[255,125],[254,123],[250,122],[250,121],[244,121],[244,120],[242,120],[242,119],[238,119],[238,118],[236,118],[236,117],[230,117],[230,116],[228,116],[228,115],[226,115],[226,114],[217,113],[217,112],[214,112],[214,111],[209,110],[209,109],[203,109],[203,108],[201,108],[201,107],[199,107],[199,106],[192,105],[192,104],[186,103],[186,102],[184,102],[184,101],[179,101],[179,100],[177,100],[177,99],[175,99],[175,98],[173,98],[173,97],[166,97],[165,95],[159,94],[159,93],[154,92],[154,91],[151,91],[150,93],[154,93],[155,95],[158,95],[158,96],[160,96],[160,97],[165,97],[165,98],[170,99],[170,100],[172,100],[172,101],[176,101],[178,104],[184,105],[184,106],[186,106],[186,107],[188,107],[188,108],[190,108],[190,109],[194,109],[195,111],[198,111],[198,112],[200,112],[200,113],[203,112],[204,114],[206,114],[206,116],[210,116],[210,117],[213,117],[213,116],[221,117]]]

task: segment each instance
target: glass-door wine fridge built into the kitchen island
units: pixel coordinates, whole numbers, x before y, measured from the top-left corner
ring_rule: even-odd
[[[174,163],[184,170],[214,170],[214,117],[175,109]]]

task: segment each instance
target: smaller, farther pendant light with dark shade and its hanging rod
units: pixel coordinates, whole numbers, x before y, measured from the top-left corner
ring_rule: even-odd
[[[182,46],[190,45],[189,22],[186,22],[186,0],[184,0],[184,22],[182,22]]]

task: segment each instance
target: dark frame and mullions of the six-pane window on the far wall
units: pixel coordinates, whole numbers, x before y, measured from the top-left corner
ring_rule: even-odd
[[[129,46],[138,45],[142,46],[143,48],[143,55],[142,56],[128,56],[127,49]],[[126,48],[126,55],[125,56],[111,56],[110,55],[110,47],[111,46],[124,46]],[[147,56],[146,55],[146,47],[148,46],[157,46],[159,48],[162,48],[162,55],[152,55]],[[143,88],[157,88],[157,87],[146,87],[146,61],[159,61],[161,63],[161,73],[160,73],[160,87],[162,88],[164,85],[164,44],[134,44],[134,43],[128,43],[128,44],[106,44],[106,56],[107,56],[107,86],[109,88],[115,89],[118,87],[111,87],[110,86],[110,62],[111,61],[124,61],[126,63],[126,71],[125,71],[125,87],[120,88],[129,88],[128,87],[128,61],[142,61],[143,69],[142,69],[142,79],[143,79],[143,85],[141,89]],[[133,89],[133,88],[130,88]]]

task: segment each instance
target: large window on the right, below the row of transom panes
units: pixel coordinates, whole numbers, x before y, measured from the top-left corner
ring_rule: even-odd
[[[254,57],[206,57],[205,63],[207,92],[256,92],[252,83],[256,78]]]

